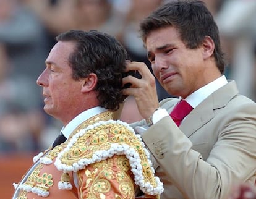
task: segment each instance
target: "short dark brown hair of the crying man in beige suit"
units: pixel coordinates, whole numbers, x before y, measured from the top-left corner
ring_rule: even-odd
[[[187,48],[198,48],[205,36],[215,43],[213,56],[221,74],[224,73],[226,60],[221,49],[219,30],[205,3],[202,1],[171,1],[153,11],[140,23],[140,35],[145,42],[153,31],[173,26],[179,31],[181,40]]]

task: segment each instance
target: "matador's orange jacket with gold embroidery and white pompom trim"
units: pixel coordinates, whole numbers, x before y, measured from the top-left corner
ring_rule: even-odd
[[[34,158],[13,199],[159,198],[163,184],[139,135],[106,111],[80,124],[66,142]]]

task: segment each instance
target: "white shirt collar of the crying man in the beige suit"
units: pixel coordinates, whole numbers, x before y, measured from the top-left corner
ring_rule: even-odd
[[[222,75],[213,82],[208,83],[202,88],[199,88],[198,90],[194,91],[194,93],[192,93],[191,95],[187,96],[186,101],[190,104],[190,106],[195,108],[209,95],[211,95],[213,92],[223,87],[227,83],[228,80],[226,79],[225,75]]]

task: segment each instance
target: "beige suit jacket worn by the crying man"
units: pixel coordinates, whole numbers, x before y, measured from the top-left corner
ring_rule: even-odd
[[[176,98],[160,106],[171,112]],[[142,125],[143,121],[135,125]],[[142,135],[164,183],[161,198],[226,198],[256,180],[256,104],[229,82],[198,104],[180,127],[164,117]]]

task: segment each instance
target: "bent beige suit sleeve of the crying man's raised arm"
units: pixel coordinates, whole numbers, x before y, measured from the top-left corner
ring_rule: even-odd
[[[255,183],[255,104],[235,107],[224,114],[219,125],[218,139],[206,160],[168,116],[142,135],[160,167],[186,198],[224,199],[233,184]]]

